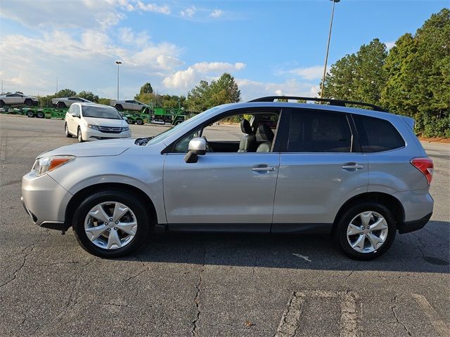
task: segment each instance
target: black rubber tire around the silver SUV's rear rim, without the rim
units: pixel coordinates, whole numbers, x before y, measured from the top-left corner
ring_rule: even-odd
[[[349,224],[356,216],[366,211],[379,213],[383,216],[383,218],[385,218],[387,223],[387,237],[385,237],[385,242],[383,245],[375,251],[370,253],[361,253],[353,249],[349,244],[349,239],[347,239],[347,227],[349,227]],[[354,206],[350,206],[348,211],[340,216],[340,219],[338,219],[335,227],[333,228],[332,235],[333,241],[340,249],[342,249],[345,255],[355,260],[372,260],[373,258],[378,258],[378,256],[383,255],[390,248],[392,242],[394,242],[396,232],[397,223],[390,209],[375,201],[363,201],[359,204],[355,204]]]

